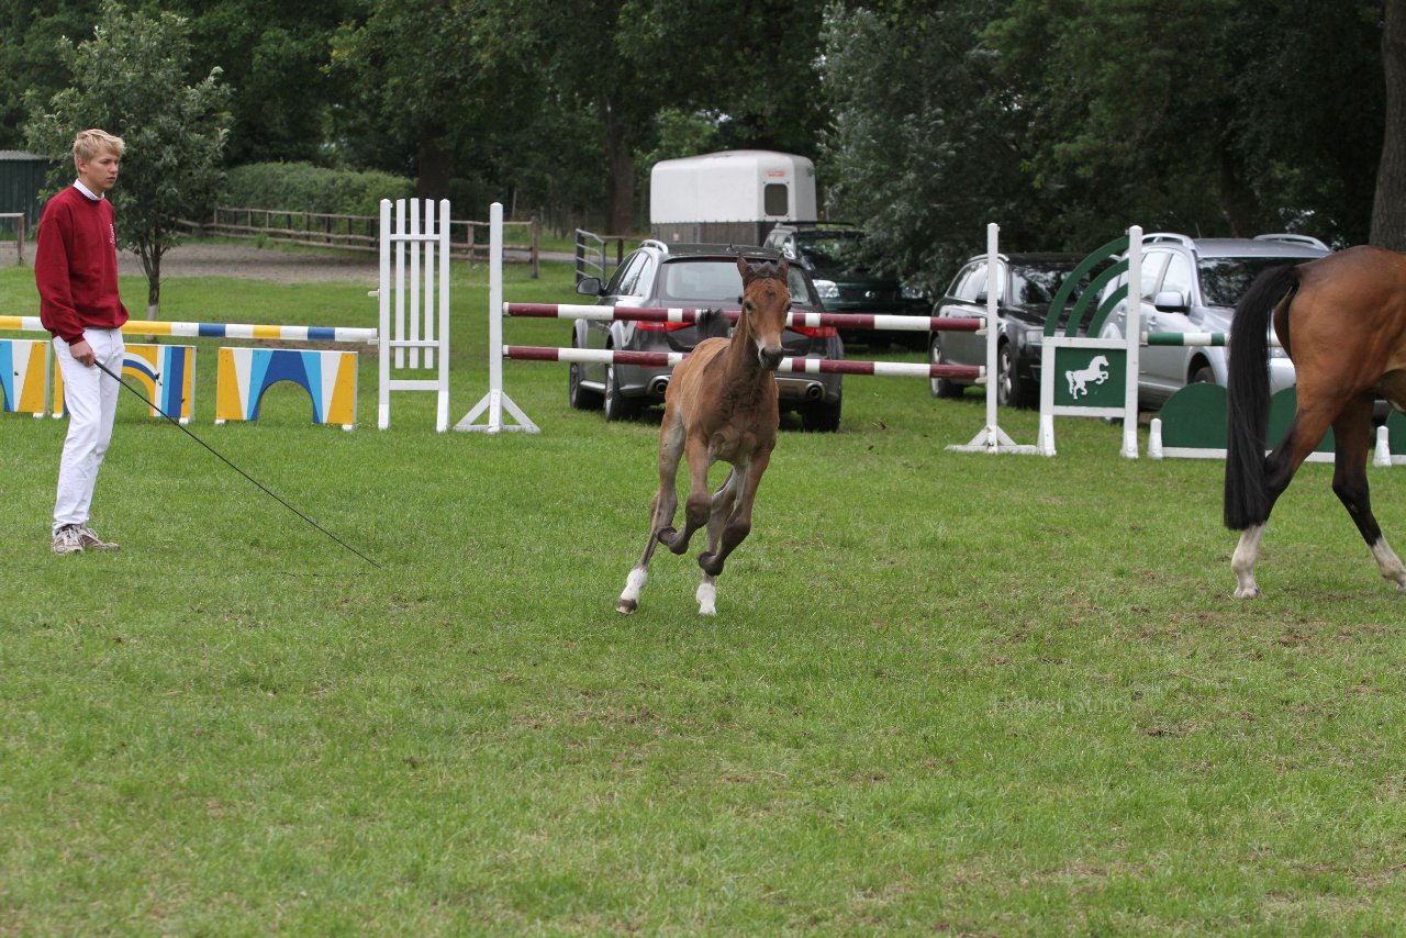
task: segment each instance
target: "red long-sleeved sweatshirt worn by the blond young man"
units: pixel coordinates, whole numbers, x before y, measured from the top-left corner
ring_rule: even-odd
[[[127,307],[117,294],[117,228],[112,204],[76,186],[51,198],[39,217],[34,255],[39,321],[67,343],[84,328],[117,329]]]

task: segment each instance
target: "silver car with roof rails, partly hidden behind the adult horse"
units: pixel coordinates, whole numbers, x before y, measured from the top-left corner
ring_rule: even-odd
[[[1303,263],[1333,253],[1317,238],[1188,238],[1157,232],[1143,236],[1142,332],[1230,330],[1234,307],[1254,278],[1271,267]],[[1107,295],[1128,274],[1109,284]],[[1101,338],[1122,338],[1126,302],[1118,304]],[[1140,352],[1137,402],[1160,408],[1167,398],[1198,381],[1225,387],[1226,350],[1220,346],[1144,346]],[[1294,363],[1282,350],[1270,359],[1270,391],[1294,385]]]

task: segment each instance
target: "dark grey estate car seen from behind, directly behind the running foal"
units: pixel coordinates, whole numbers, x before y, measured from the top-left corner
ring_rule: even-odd
[[[742,276],[737,257],[749,262],[780,260],[769,248],[731,245],[664,245],[645,240],[616,269],[610,283],[585,277],[576,293],[596,297],[607,307],[682,307],[692,309],[740,309]],[[810,276],[792,264],[787,277],[793,312],[823,312]],[[595,322],[576,319],[571,329],[575,349],[627,352],[692,352],[699,330],[685,322]],[[845,346],[831,326],[787,326],[782,333],[787,357],[844,359]],[[637,415],[648,404],[661,404],[672,371],[638,364],[572,363],[568,401],[576,409],[603,408],[607,420]],[[783,411],[800,413],[807,430],[839,429],[841,375],[776,374]]]

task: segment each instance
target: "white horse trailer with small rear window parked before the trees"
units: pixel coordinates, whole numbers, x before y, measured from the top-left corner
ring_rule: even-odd
[[[815,166],[804,156],[724,150],[650,170],[650,233],[665,243],[761,245],[778,222],[815,217]]]

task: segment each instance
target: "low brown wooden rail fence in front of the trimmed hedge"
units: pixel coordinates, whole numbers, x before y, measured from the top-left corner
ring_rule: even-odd
[[[488,222],[450,219],[450,253],[465,260],[488,260]],[[333,215],[283,208],[217,207],[214,218],[198,225],[201,233],[249,238],[283,245],[337,248],[377,252],[381,246],[381,219],[374,215]],[[505,243],[503,260],[530,263],[536,278],[541,262],[541,228],[537,219],[503,222],[519,232],[526,243]]]

